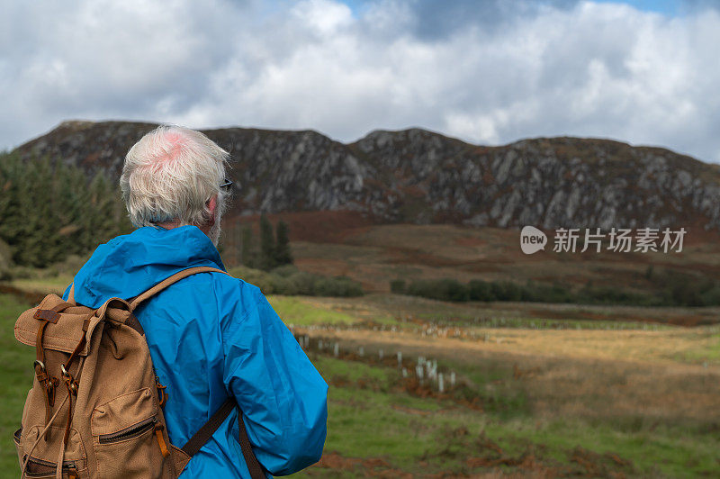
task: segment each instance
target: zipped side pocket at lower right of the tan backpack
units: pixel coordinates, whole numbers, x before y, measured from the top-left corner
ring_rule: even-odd
[[[172,470],[163,450],[167,433],[149,388],[97,406],[91,425],[99,477],[163,477]]]

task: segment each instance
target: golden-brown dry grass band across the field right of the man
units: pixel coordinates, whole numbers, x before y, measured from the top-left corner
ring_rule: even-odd
[[[490,330],[488,342],[422,337],[410,331],[311,330],[370,356],[433,357],[459,365],[465,378],[498,375],[485,388],[527,394],[537,418],[612,421],[618,427],[661,425],[720,429],[720,366],[671,357],[698,340],[675,331]],[[715,339],[700,339],[715,341]],[[470,373],[468,373],[470,371]]]

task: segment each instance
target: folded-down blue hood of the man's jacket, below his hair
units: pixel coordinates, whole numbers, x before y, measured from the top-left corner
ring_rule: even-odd
[[[75,276],[75,300],[99,308],[112,297],[135,297],[180,270],[200,266],[225,270],[220,253],[196,226],[139,228],[95,249]]]

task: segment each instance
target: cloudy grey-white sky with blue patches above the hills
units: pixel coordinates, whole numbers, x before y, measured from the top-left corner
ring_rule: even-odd
[[[114,119],[592,136],[720,162],[717,4],[0,0],[0,149]]]

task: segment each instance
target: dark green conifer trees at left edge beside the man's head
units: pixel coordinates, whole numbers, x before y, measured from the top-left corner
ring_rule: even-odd
[[[0,242],[15,264],[47,267],[130,230],[120,188],[102,172],[0,153]]]

